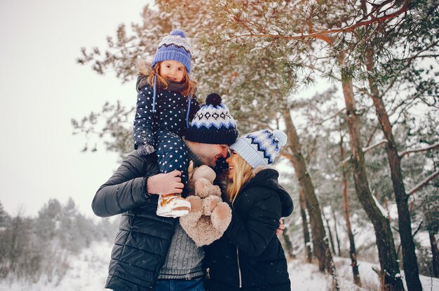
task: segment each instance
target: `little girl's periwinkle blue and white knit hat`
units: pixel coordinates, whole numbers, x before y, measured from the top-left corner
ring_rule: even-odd
[[[182,29],[174,29],[170,35],[163,37],[161,42],[158,43],[151,68],[154,69],[158,62],[172,59],[184,64],[189,74],[191,72],[191,58],[191,48],[186,39],[186,34],[184,34]]]

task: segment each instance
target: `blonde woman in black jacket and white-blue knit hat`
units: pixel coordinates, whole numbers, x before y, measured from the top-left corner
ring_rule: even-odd
[[[261,130],[241,136],[230,146],[226,200],[232,218],[222,238],[209,249],[209,291],[290,290],[276,229],[279,219],[292,213],[292,199],[279,185],[278,172],[266,167],[286,140],[279,130]]]

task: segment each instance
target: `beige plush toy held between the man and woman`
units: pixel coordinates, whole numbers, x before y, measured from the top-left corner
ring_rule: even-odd
[[[191,212],[180,218],[180,225],[197,246],[210,245],[226,231],[231,221],[229,204],[221,199],[221,190],[213,185],[216,174],[209,166],[194,169],[189,163],[189,196]]]

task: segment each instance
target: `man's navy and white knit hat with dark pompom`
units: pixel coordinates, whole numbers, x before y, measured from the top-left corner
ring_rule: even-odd
[[[212,93],[205,99],[205,104],[197,111],[186,139],[196,143],[228,144],[238,137],[236,122],[229,113],[229,108],[221,103],[221,97]]]

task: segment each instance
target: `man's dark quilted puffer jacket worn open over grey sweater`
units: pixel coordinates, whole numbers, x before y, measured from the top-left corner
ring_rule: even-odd
[[[152,290],[156,282],[177,222],[156,215],[158,195],[146,191],[146,179],[156,173],[156,155],[140,156],[134,151],[95,194],[96,215],[123,213],[105,288]]]

